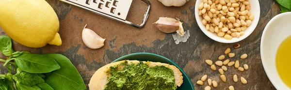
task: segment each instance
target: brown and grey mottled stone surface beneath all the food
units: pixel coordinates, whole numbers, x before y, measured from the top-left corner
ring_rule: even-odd
[[[232,47],[234,44],[223,44],[211,40],[199,29],[194,15],[195,0],[190,0],[182,7],[166,7],[158,0],[150,0],[152,9],[146,26],[142,29],[133,28],[58,0],[47,1],[59,17],[59,33],[63,45],[30,48],[14,42],[13,47],[19,51],[28,50],[39,54],[60,53],[65,55],[77,67],[86,85],[95,71],[103,65],[130,53],[149,52],[176,62],[191,78],[195,90],[204,90],[206,87],[207,82],[204,82],[203,86],[196,84],[196,81],[205,74],[218,82],[217,88],[211,86],[213,90],[228,90],[230,85],[234,86],[236,90],[275,90],[263,69],[259,48],[264,27],[280,11],[279,5],[274,0],[259,0],[259,24],[250,36],[238,42],[241,47],[237,49]],[[139,24],[145,11],[146,4],[144,2],[133,0],[127,20]],[[184,29],[190,30],[191,37],[186,43],[176,45],[172,33],[162,33],[152,24],[159,17],[178,17],[184,22]],[[85,24],[87,24],[87,28],[106,38],[104,47],[92,50],[83,44],[81,32]],[[0,35],[6,34],[0,30]],[[232,47],[232,52],[237,54],[235,58],[230,59],[231,61],[235,61],[239,59],[240,55],[247,53],[248,58],[241,60],[241,63],[248,64],[249,70],[240,72],[234,67],[229,67],[225,72],[227,82],[224,83],[220,79],[218,71],[211,71],[210,66],[204,60],[216,61],[218,56],[224,53],[226,47]],[[5,57],[0,54],[0,58],[4,59]],[[0,73],[5,72],[7,71],[0,67]],[[245,77],[248,83],[243,85],[241,82],[233,82],[232,75],[234,74]]]

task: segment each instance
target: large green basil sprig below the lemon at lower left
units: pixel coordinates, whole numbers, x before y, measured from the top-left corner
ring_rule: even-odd
[[[0,36],[0,51],[7,56],[0,61],[8,70],[0,75],[0,90],[86,90],[76,67],[61,54],[15,52],[8,36]]]

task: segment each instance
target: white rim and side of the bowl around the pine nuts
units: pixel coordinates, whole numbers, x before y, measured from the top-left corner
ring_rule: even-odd
[[[205,26],[202,24],[202,16],[198,15],[198,5],[199,3],[202,2],[202,0],[196,0],[196,4],[195,4],[195,18],[197,21],[198,26],[200,27],[200,29],[204,32],[204,34],[206,34],[208,37],[210,37],[212,40],[215,40],[217,42],[221,42],[221,43],[235,43],[235,42],[239,42],[243,39],[245,39],[247,36],[249,36],[257,27],[257,24],[259,22],[259,14],[260,14],[260,9],[259,9],[259,0],[249,0],[250,5],[251,5],[251,10],[249,11],[251,14],[255,15],[255,19],[252,21],[252,24],[250,27],[248,27],[244,32],[245,34],[242,35],[240,38],[232,38],[231,40],[226,40],[224,37],[219,37],[217,36],[216,33],[212,33],[208,30],[206,30]]]

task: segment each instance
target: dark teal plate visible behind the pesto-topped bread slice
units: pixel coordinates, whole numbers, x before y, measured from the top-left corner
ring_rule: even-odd
[[[170,65],[174,65],[182,72],[182,75],[183,75],[183,84],[181,85],[181,87],[178,87],[177,90],[194,90],[191,80],[183,71],[183,69],[179,65],[177,65],[174,61],[169,60],[165,57],[162,57],[157,54],[152,54],[152,53],[133,53],[133,54],[120,57],[112,62],[121,61],[121,60],[152,61],[152,62],[162,62],[162,63],[168,63]]]

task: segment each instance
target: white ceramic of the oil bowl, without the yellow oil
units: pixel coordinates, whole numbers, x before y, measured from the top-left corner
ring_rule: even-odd
[[[291,13],[283,13],[273,17],[261,38],[260,54],[266,74],[277,90],[291,90],[279,77],[275,65],[276,52],[279,45],[291,35]]]

